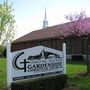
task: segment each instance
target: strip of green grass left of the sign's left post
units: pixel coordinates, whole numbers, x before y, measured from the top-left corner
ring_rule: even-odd
[[[6,85],[6,59],[0,58],[0,90]]]

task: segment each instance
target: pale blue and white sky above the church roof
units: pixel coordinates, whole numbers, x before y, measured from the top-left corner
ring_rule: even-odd
[[[3,0],[1,0],[3,1]],[[85,10],[90,16],[90,0],[8,0],[13,2],[16,20],[15,38],[41,29],[45,7],[49,26],[65,23],[65,15]]]

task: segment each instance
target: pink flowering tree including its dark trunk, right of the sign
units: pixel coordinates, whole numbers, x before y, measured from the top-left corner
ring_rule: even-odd
[[[90,20],[88,20],[84,11],[81,11],[79,14],[75,13],[66,15],[65,18],[72,22],[71,25],[65,26],[67,28],[66,33],[69,33],[72,36],[81,37],[83,40],[86,40],[87,42],[86,45],[87,73],[90,73],[90,60],[89,60]]]

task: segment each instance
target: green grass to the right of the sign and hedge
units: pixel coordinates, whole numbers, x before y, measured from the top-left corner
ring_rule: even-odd
[[[67,84],[69,87],[76,87],[74,90],[90,90],[90,76],[79,76],[87,71],[86,65],[67,65]],[[70,89],[71,90],[71,89]],[[73,90],[73,89],[72,89]]]

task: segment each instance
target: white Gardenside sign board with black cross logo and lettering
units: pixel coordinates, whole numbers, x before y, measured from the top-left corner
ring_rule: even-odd
[[[66,73],[65,45],[63,51],[36,46],[12,52],[7,58],[11,82]]]

